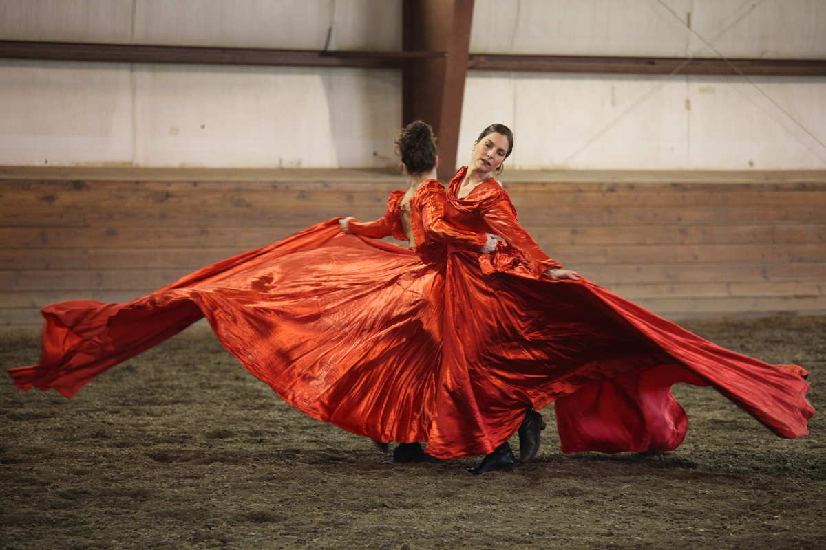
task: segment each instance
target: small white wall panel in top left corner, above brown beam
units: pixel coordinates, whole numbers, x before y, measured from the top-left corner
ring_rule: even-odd
[[[2,0],[0,40],[128,43],[132,0]]]

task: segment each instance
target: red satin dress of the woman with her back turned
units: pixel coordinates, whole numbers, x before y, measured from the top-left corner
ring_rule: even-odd
[[[394,191],[375,222],[351,221],[356,234],[332,219],[131,302],[46,306],[40,363],[8,372],[21,389],[73,397],[97,374],[206,316],[225,348],[299,411],[373,440],[427,441],[439,391],[446,247],[425,224],[439,230],[444,187],[428,181],[406,206],[415,249],[371,238],[406,239],[404,195]],[[467,456],[460,447],[443,455]]]

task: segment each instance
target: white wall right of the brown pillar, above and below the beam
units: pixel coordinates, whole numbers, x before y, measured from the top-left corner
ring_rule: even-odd
[[[826,59],[826,2],[477,0],[472,53]],[[491,120],[511,166],[826,167],[826,78],[468,73],[458,159]]]

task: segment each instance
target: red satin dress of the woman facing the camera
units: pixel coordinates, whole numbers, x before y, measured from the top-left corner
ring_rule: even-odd
[[[551,280],[544,271],[559,264],[521,228],[495,180],[457,197],[466,170],[450,182],[441,227],[495,233],[508,246],[480,255],[442,236],[450,242],[442,346],[449,377],[437,410],[463,421],[440,424],[429,452],[462,445],[489,453],[520,425],[525,407],[550,402],[563,452],[671,450],[688,425],[670,392],[677,382],[716,388],[776,435],[808,433],[814,409],[804,369],[715,346],[585,278]]]

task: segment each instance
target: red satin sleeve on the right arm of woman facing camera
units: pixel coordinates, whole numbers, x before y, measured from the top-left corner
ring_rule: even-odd
[[[534,238],[516,220],[516,209],[510,202],[506,190],[491,195],[481,206],[482,219],[485,220],[487,226],[493,233],[504,238],[511,247],[520,251],[534,273],[541,275],[549,267],[562,267],[562,264],[549,258],[539,248]]]

